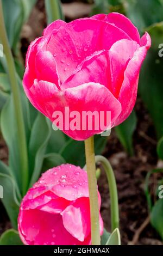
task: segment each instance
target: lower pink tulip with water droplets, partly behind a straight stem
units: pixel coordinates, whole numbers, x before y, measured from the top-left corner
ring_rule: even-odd
[[[101,197],[98,193],[99,208]],[[99,213],[101,234],[103,221]],[[23,198],[18,231],[25,245],[90,245],[87,174],[71,164],[47,170]]]

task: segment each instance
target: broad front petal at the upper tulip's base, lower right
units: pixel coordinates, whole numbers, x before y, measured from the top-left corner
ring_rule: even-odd
[[[66,89],[64,92],[65,106],[68,105],[70,108],[70,112],[78,111],[80,113],[80,127],[79,130],[64,130],[64,132],[77,140],[84,140],[86,138],[95,135],[96,133],[102,132],[104,130],[101,129],[101,120],[100,124],[95,123],[95,120],[92,121],[92,127],[89,128],[89,124],[85,124],[85,120],[82,119],[83,112],[97,111],[100,116],[100,112],[106,114],[107,112],[111,112],[111,124],[114,123],[118,115],[121,113],[121,104],[117,99],[111,94],[111,92],[101,84],[98,83],[86,83],[81,86]],[[64,113],[63,113],[64,114]],[[71,120],[71,119],[70,119]],[[86,127],[82,127],[84,124]],[[111,126],[110,122],[107,124],[108,128]],[[71,121],[70,121],[71,125]],[[96,126],[98,125],[98,127]],[[64,124],[65,126],[65,124]],[[98,129],[97,129],[98,128]]]

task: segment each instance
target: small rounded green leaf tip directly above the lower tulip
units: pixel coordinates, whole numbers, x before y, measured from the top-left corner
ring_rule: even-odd
[[[45,172],[48,169],[60,166],[62,163],[66,163],[66,161],[61,155],[57,153],[47,154],[44,157],[41,172]]]

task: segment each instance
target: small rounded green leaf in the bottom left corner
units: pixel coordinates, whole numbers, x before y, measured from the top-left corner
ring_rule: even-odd
[[[23,243],[17,230],[8,229],[1,235],[0,245],[23,245]]]

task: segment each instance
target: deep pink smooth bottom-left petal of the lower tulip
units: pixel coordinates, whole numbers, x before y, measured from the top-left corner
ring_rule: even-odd
[[[86,245],[65,229],[59,214],[24,210],[18,217],[22,241],[28,245]]]

